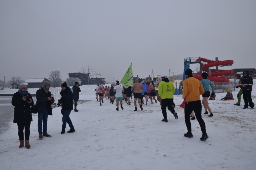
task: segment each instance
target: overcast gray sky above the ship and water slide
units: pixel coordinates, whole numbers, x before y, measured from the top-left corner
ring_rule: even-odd
[[[183,73],[185,57],[256,68],[255,0],[0,0],[0,79]],[[191,69],[197,65],[191,65]],[[97,76],[99,77],[99,75]]]

